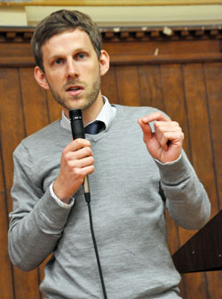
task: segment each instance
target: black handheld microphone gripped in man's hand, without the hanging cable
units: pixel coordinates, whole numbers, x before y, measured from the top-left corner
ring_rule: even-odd
[[[77,138],[85,138],[84,134],[84,126],[83,126],[83,115],[81,109],[70,109],[69,110],[69,117],[71,121],[71,130],[73,134],[73,139]],[[83,192],[84,198],[86,202],[91,201],[91,193],[90,193],[90,184],[88,175],[85,176],[83,182]]]

